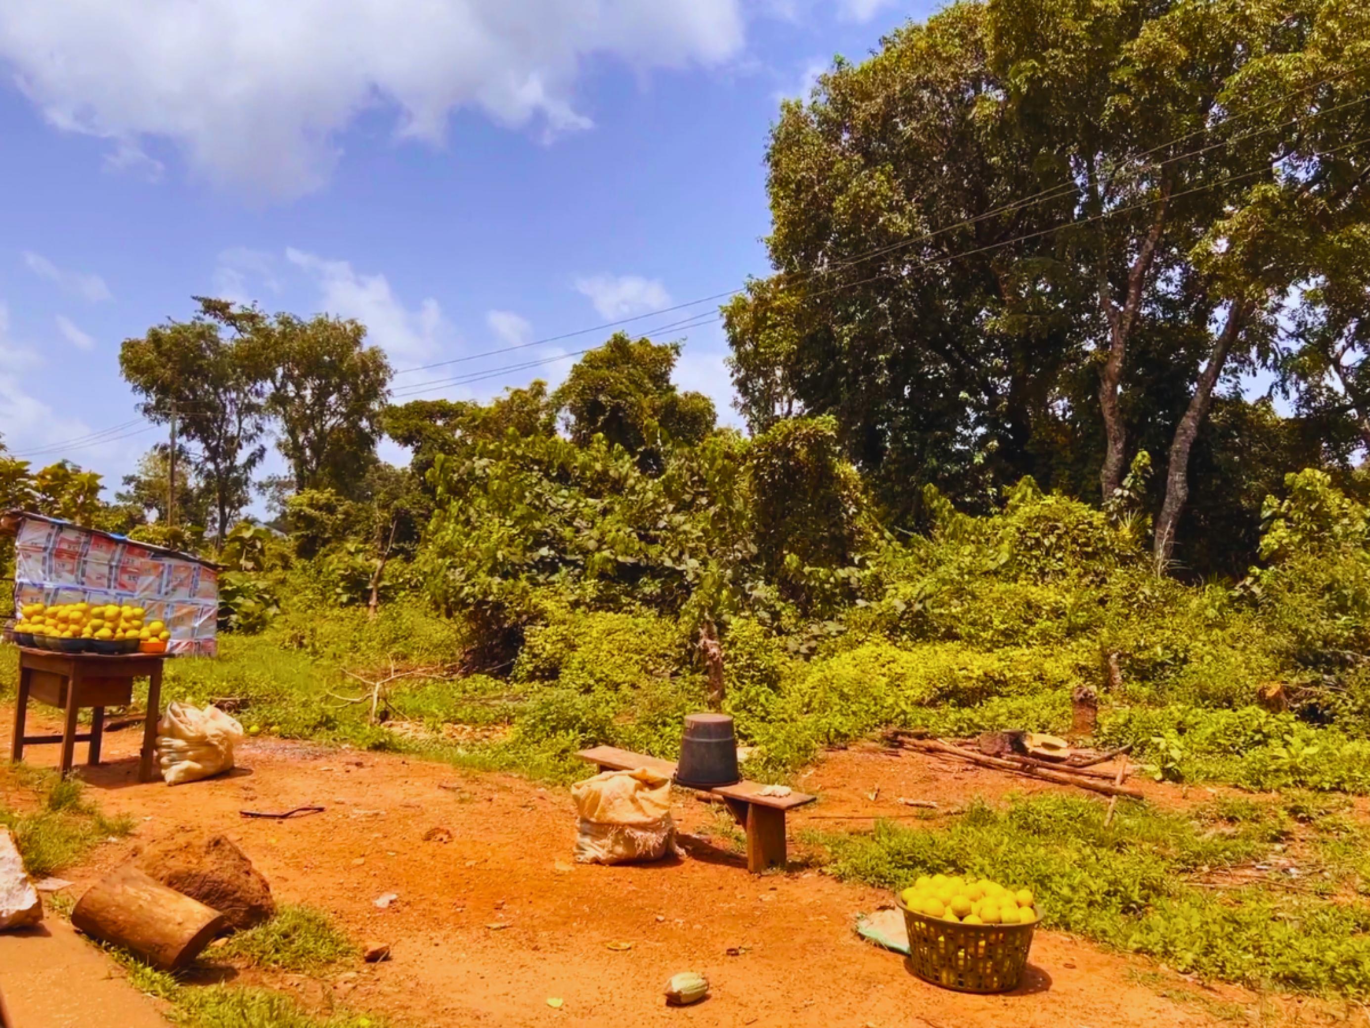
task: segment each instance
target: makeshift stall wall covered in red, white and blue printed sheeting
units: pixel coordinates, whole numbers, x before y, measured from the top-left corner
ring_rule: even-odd
[[[25,603],[118,603],[164,621],[167,652],[214,657],[218,570],[186,554],[148,547],[66,521],[23,515],[15,539],[15,610]]]

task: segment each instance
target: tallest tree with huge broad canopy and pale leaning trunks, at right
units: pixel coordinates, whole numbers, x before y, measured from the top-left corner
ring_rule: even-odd
[[[877,485],[963,499],[1095,454],[1107,500],[1159,421],[1167,563],[1215,393],[1354,280],[1367,47],[1354,0],[992,0],[838,60],[771,133],[744,414],[780,382]]]

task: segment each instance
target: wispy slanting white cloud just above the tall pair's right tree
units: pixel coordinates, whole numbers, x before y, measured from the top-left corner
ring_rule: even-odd
[[[453,337],[452,326],[432,296],[411,310],[395,295],[384,274],[362,274],[347,260],[327,260],[293,247],[285,251],[285,259],[319,286],[322,310],[360,321],[369,340],[400,366],[432,358]]]

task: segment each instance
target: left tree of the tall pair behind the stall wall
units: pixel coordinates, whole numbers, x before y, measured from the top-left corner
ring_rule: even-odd
[[[251,499],[252,469],[266,454],[267,369],[253,340],[266,322],[255,307],[196,297],[190,321],[169,321],[126,339],[119,369],[144,397],[142,414],[199,448],[196,467],[212,495],[212,528],[227,536]]]

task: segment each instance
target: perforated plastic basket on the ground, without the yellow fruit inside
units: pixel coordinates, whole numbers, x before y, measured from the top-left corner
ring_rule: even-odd
[[[958,992],[1007,992],[1018,987],[1032,924],[954,924],[910,910],[901,896],[895,903],[904,911],[908,928],[908,962],[923,981]]]

